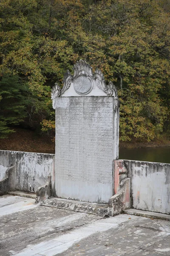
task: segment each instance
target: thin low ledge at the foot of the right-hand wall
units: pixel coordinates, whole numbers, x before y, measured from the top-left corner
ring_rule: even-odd
[[[148,217],[148,218],[158,218],[158,219],[170,221],[170,215],[158,213],[158,212],[147,212],[147,211],[142,211],[142,210],[138,210],[138,209],[126,209],[123,212],[127,213],[127,214],[131,214],[131,215],[136,215],[136,216],[143,216],[143,217]]]

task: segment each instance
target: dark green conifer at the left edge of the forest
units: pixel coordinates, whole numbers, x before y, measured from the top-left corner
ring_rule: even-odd
[[[0,138],[13,132],[9,125],[18,125],[26,117],[27,90],[18,76],[4,76],[0,80]]]

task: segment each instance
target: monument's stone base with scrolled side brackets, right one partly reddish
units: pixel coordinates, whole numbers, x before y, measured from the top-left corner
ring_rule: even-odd
[[[127,177],[127,169],[123,160],[114,161],[114,177],[115,195],[109,199],[108,204],[74,201],[64,198],[48,198],[50,197],[48,186],[42,186],[42,188],[39,188],[36,191],[36,203],[43,206],[67,209],[76,212],[85,212],[102,216],[115,216],[123,212],[123,210],[129,209],[131,206],[130,177]],[[50,183],[48,185],[50,186]]]

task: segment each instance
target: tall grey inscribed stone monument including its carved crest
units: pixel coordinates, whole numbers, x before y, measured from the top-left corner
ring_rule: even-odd
[[[85,61],[68,71],[51,97],[56,110],[55,189],[59,198],[108,203],[119,155],[116,87]]]

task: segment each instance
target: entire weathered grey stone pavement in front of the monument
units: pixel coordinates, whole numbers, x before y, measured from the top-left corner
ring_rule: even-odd
[[[170,221],[121,214],[115,217],[0,197],[0,256],[170,255]]]

